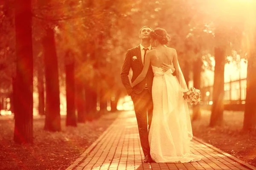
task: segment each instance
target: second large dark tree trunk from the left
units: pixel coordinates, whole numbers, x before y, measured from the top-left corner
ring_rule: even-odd
[[[58,59],[55,48],[54,31],[47,28],[42,40],[44,47],[46,109],[44,129],[61,130],[60,89],[58,76]]]

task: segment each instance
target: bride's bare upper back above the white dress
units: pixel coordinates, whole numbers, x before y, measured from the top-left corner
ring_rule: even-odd
[[[166,63],[168,65],[173,65],[175,49],[168,48],[165,46],[160,46],[151,50],[150,53],[151,53],[150,55],[151,65],[155,67],[161,67],[163,63]]]

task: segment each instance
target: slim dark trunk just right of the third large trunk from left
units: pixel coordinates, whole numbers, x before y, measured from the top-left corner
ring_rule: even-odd
[[[76,79],[76,106],[77,106],[77,121],[80,123],[85,122],[85,94],[84,87],[81,81]]]

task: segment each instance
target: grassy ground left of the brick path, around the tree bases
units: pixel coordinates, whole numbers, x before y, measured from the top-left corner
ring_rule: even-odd
[[[77,127],[66,127],[61,119],[61,132],[44,129],[44,118],[35,116],[34,144],[19,145],[13,141],[14,120],[0,119],[0,170],[65,170],[112,124],[117,113]]]

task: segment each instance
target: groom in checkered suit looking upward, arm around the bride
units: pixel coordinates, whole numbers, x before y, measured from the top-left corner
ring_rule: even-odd
[[[149,66],[148,73],[145,79],[137,84],[134,88],[131,88],[128,74],[131,68],[133,71],[131,82],[133,82],[140,75],[144,65],[145,54],[148,50],[152,49],[149,37],[151,31],[153,31],[153,29],[149,26],[143,26],[143,28],[140,29],[140,45],[127,51],[121,72],[122,83],[134,103],[134,111],[137,118],[137,124],[140,134],[140,143],[145,156],[145,163],[149,163],[152,161],[150,156],[150,147],[148,143],[148,131],[151,125],[153,114],[153,101],[151,90],[154,73],[151,66]],[[163,68],[163,72],[165,72],[169,68],[173,67],[163,63],[161,68]]]

